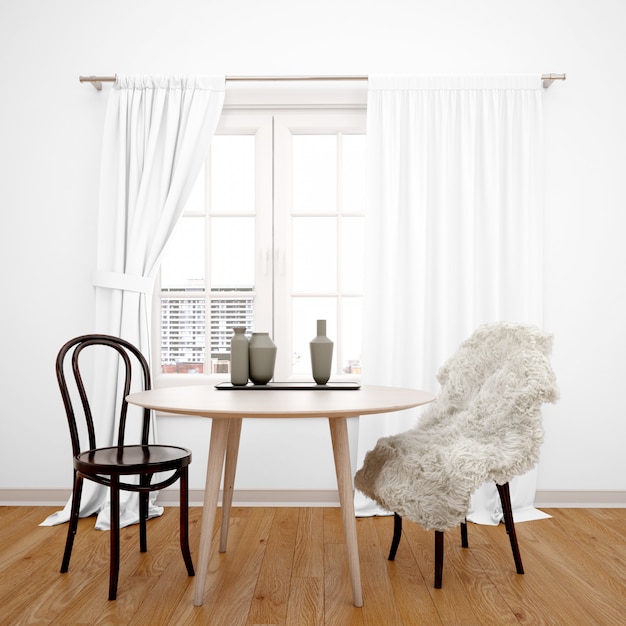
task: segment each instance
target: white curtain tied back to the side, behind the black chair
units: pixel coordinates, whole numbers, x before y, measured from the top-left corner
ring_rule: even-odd
[[[118,76],[104,124],[94,276],[96,332],[122,337],[150,358],[150,294],[161,254],[208,155],[224,103],[224,77]],[[97,358],[98,445],[113,445],[117,362]],[[153,437],[155,425],[152,425]],[[122,494],[120,524],[138,521],[137,494]],[[44,525],[69,519],[70,503]],[[109,528],[108,489],[85,481],[81,516]],[[150,504],[150,515],[162,509]]]

